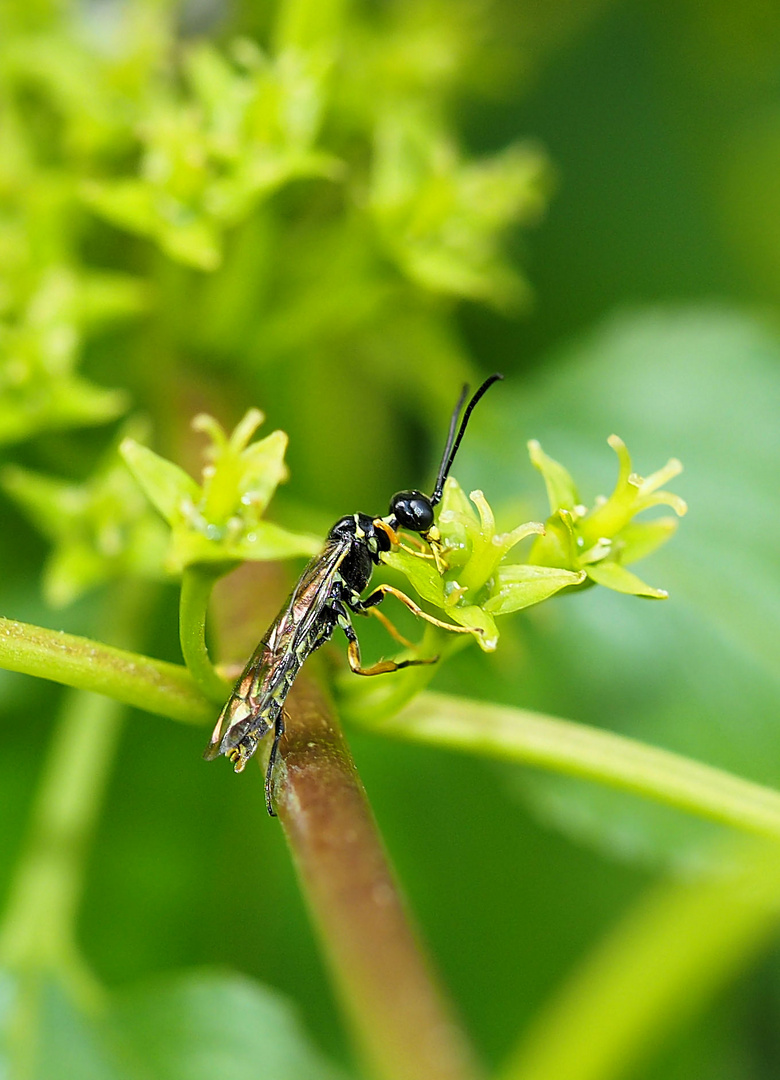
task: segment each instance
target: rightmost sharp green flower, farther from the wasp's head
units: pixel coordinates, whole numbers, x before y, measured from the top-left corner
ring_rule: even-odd
[[[635,522],[636,514],[658,505],[671,507],[678,517],[686,513],[688,508],[680,496],[661,490],[683,467],[676,458],[671,458],[662,469],[644,478],[632,471],[623,441],[610,435],[607,442],[618,456],[617,484],[608,499],[596,499],[590,510],[580,503],[566,469],[549,458],[535,440],[528,443],[530,460],[544,477],[552,511],[544,536],[532,549],[529,562],[584,571],[591,581],[619,593],[665,599],[664,590],[645,584],[626,567],[665,543],[677,527],[674,517]]]

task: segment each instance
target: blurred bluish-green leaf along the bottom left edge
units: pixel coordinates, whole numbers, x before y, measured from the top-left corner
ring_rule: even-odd
[[[28,1080],[345,1080],[288,1003],[190,972],[80,1007],[53,974],[0,971],[0,1074]]]

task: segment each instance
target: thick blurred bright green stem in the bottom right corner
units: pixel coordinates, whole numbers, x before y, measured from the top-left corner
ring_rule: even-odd
[[[777,932],[776,843],[728,852],[723,873],[663,882],[579,964],[499,1080],[619,1080]]]

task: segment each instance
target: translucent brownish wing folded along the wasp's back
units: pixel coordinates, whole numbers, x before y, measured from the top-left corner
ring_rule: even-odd
[[[348,552],[349,544],[332,540],[306,566],[225,703],[203,752],[207,761],[237,745],[250,729],[254,729],[257,738],[261,739],[271,728],[272,721],[268,723],[264,713],[267,713],[291,669],[299,667],[306,659],[306,656],[299,656],[298,646],[311,632]]]

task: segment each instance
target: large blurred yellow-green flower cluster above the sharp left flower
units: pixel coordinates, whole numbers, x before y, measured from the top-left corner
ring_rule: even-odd
[[[214,270],[224,230],[260,199],[292,179],[338,175],[340,163],[314,148],[328,68],[318,51],[270,58],[247,39],[230,60],[207,43],[191,48],[189,93],[161,90],[139,125],[139,175],[88,181],[85,201],[171,258]]]

